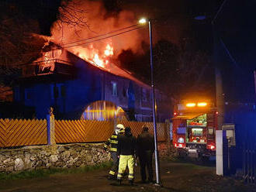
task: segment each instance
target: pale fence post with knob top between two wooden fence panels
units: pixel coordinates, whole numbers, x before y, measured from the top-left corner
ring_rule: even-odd
[[[47,114],[47,145],[54,145],[55,127],[54,127],[54,108],[50,108]]]

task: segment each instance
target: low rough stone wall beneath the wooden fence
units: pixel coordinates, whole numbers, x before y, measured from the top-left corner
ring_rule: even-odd
[[[96,165],[109,161],[102,144],[66,144],[0,149],[0,173]]]

